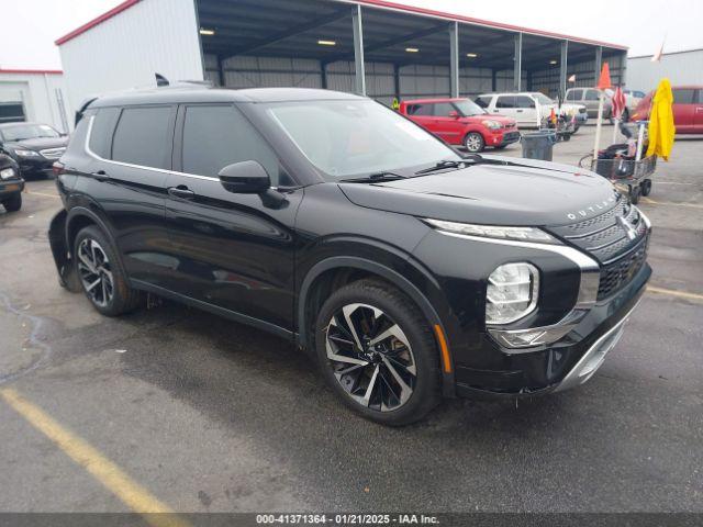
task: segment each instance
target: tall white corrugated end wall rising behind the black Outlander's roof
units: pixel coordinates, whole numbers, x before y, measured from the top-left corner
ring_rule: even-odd
[[[71,108],[91,96],[155,86],[155,72],[171,81],[202,80],[194,3],[138,2],[62,44]]]

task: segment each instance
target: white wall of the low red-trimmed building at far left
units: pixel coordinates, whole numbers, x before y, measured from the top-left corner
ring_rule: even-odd
[[[62,116],[58,99],[65,104]],[[60,132],[68,132],[72,111],[66,101],[64,77],[57,74],[7,74],[0,71],[0,102],[19,102],[24,105],[27,121],[51,124]]]

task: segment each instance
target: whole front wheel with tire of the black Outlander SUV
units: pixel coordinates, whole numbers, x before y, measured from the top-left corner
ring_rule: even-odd
[[[361,280],[333,293],[317,315],[315,351],[332,390],[368,419],[408,425],[439,402],[432,328],[384,282]]]

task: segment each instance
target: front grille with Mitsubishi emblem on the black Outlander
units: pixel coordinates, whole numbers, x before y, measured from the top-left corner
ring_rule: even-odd
[[[648,229],[637,208],[618,195],[610,211],[571,225],[549,227],[601,265],[598,300],[625,287],[647,259]]]

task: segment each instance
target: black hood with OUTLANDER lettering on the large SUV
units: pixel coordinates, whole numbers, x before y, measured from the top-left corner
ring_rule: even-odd
[[[483,157],[507,164],[339,187],[359,206],[491,225],[566,225],[615,205],[614,187],[589,170],[532,159]]]

